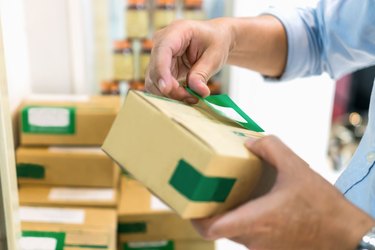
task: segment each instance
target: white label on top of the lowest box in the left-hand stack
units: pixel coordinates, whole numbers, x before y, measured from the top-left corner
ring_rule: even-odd
[[[22,222],[83,224],[85,211],[83,209],[47,208],[47,207],[20,207]]]

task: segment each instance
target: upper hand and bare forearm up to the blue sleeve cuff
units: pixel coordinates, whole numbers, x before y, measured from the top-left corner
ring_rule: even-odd
[[[176,21],[156,32],[146,72],[146,90],[196,103],[179,81],[202,97],[210,94],[207,81],[224,64],[281,75],[286,61],[286,34],[271,16]]]

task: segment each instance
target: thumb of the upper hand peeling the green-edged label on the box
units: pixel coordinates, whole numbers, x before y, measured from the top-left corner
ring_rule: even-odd
[[[210,94],[207,82],[221,66],[221,59],[216,55],[217,52],[212,53],[211,51],[207,49],[202,54],[187,76],[188,86],[202,97],[207,97]]]

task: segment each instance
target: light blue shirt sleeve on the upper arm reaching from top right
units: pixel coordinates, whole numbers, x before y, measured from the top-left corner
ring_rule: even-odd
[[[320,75],[332,78],[375,64],[375,1],[320,1],[315,8],[270,8],[283,24],[288,58],[280,80]]]

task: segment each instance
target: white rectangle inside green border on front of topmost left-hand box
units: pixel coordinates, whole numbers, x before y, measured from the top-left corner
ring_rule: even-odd
[[[70,124],[70,111],[66,108],[30,108],[28,123],[38,127],[67,127]]]

